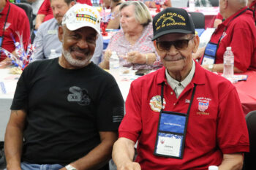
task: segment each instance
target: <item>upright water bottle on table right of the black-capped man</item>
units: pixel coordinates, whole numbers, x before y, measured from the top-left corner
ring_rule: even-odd
[[[233,82],[234,75],[234,54],[232,53],[231,47],[227,47],[224,55],[223,55],[223,77],[230,82]]]

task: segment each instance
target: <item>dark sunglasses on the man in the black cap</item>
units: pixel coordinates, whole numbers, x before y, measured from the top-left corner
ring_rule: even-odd
[[[174,45],[174,47],[176,47],[177,50],[183,50],[183,49],[187,48],[187,46],[189,45],[189,41],[193,38],[194,38],[194,36],[190,37],[189,39],[178,39],[173,42],[157,41],[157,48],[159,51],[169,51],[170,47],[172,45]]]

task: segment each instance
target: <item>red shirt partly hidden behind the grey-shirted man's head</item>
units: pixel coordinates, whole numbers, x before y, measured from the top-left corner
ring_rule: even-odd
[[[92,6],[91,0],[77,0],[77,2],[80,4],[88,4],[88,5]],[[45,0],[42,2],[42,5],[39,8],[37,14],[45,15],[44,22],[46,20],[50,20],[51,18],[53,18],[53,10],[50,7],[50,0]]]

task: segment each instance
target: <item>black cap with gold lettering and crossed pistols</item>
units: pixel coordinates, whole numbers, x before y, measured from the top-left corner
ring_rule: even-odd
[[[153,19],[154,39],[172,33],[195,34],[194,23],[185,9],[168,7]]]

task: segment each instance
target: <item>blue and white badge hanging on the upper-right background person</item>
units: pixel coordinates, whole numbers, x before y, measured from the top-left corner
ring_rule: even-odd
[[[217,49],[217,44],[208,42],[208,44],[206,45],[205,53],[203,54],[202,65],[215,63]]]

